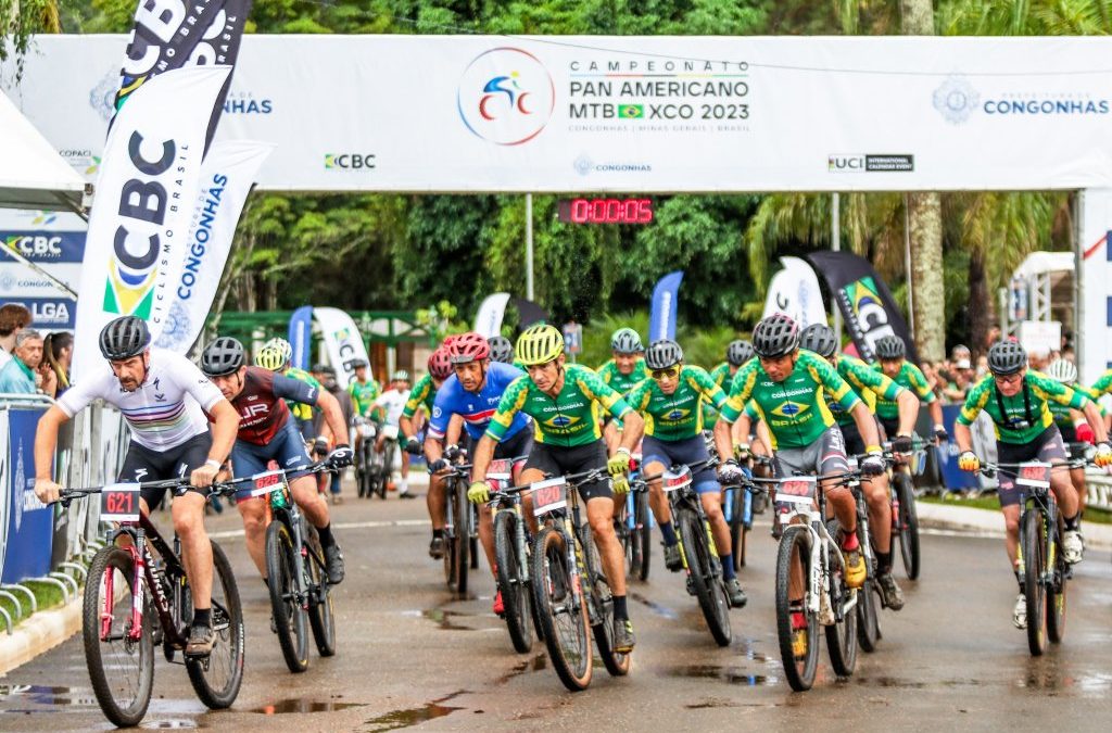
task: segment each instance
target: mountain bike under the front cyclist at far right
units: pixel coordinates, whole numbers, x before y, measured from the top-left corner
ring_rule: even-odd
[[[1061,552],[1062,516],[1050,487],[1051,472],[1085,465],[1081,462],[986,464],[981,470],[992,476],[1015,477],[1020,489],[1019,572],[1027,600],[1027,648],[1031,656],[1046,651],[1046,641],[1061,643],[1065,636],[1065,595],[1070,566]]]

